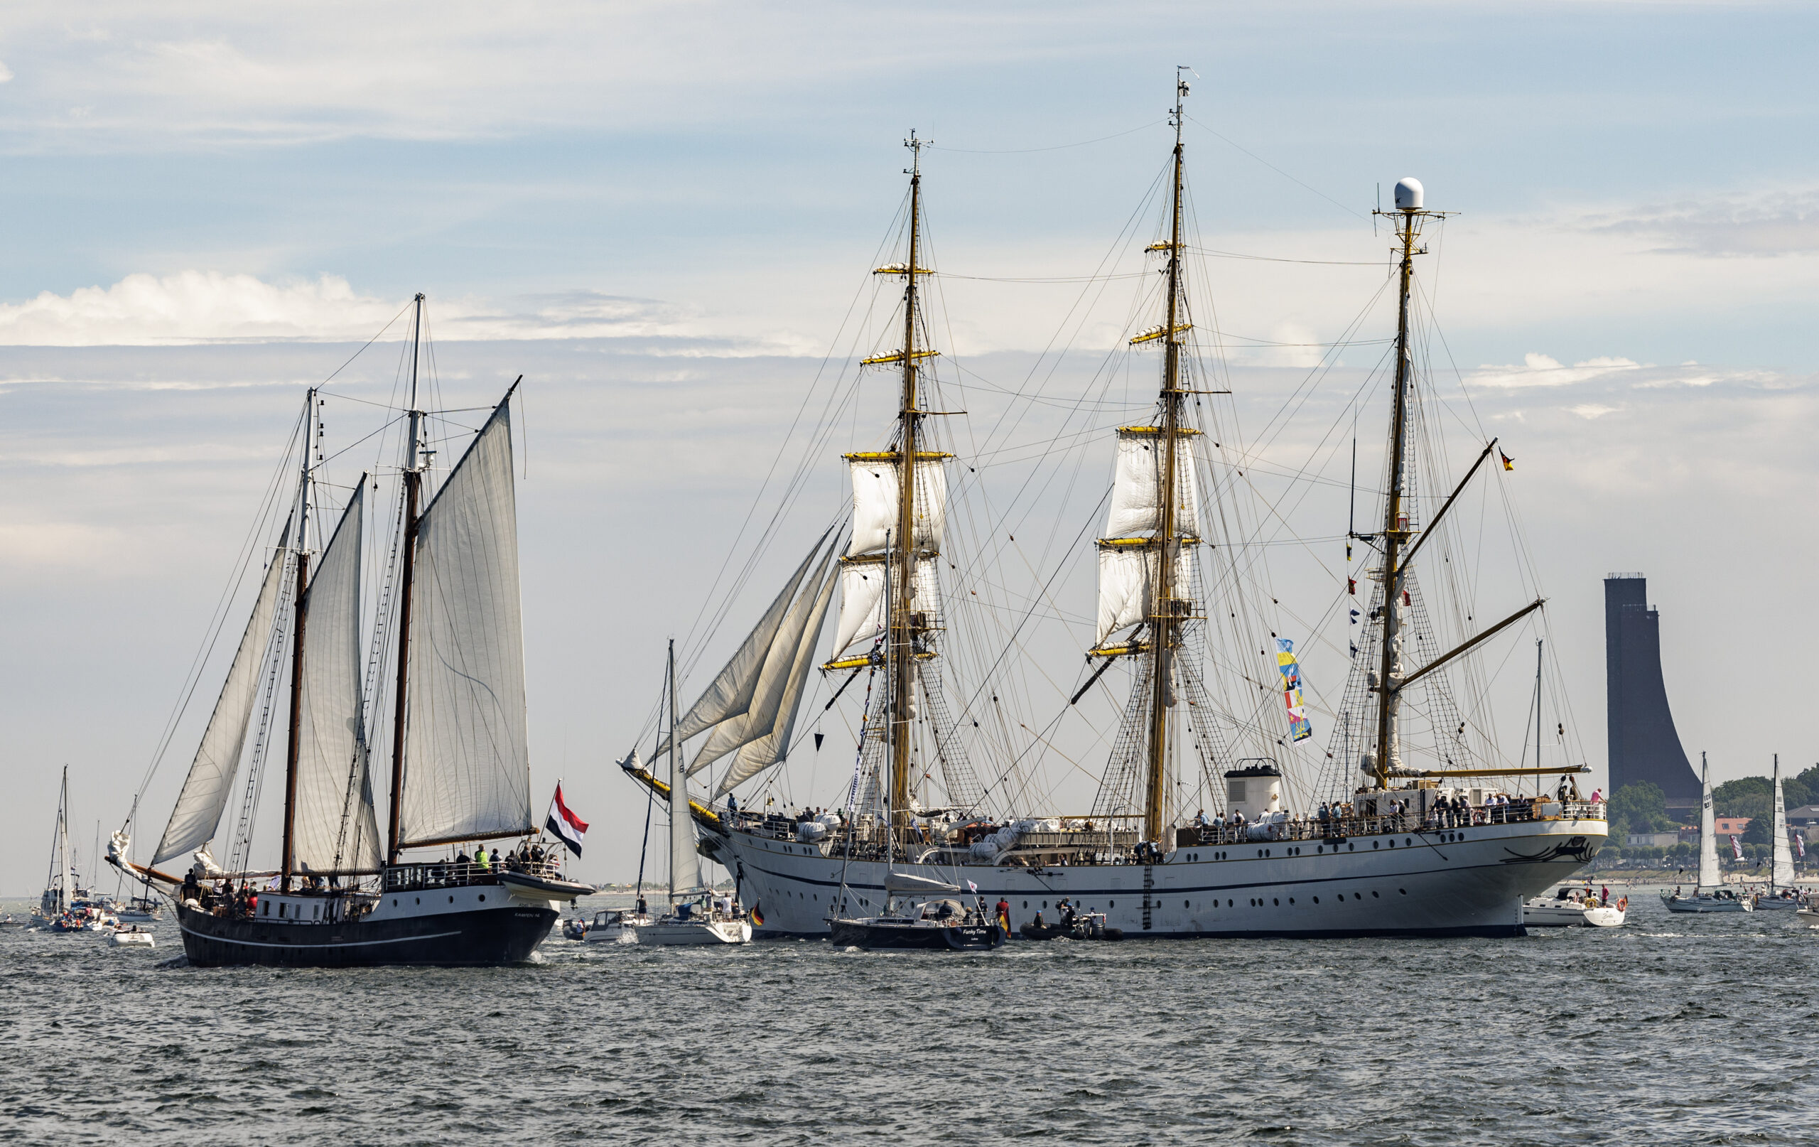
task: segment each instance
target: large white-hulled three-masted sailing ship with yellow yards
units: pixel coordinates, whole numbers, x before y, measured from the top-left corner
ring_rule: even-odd
[[[1457,497],[1455,490],[1419,526],[1410,295],[1415,257],[1424,253],[1422,226],[1437,213],[1422,206],[1415,180],[1397,186],[1395,211],[1384,213],[1395,226],[1399,280],[1386,493],[1381,530],[1348,537],[1348,555],[1352,541],[1373,555],[1366,570],[1370,615],[1355,639],[1333,752],[1317,777],[1328,797],[1319,814],[1288,808],[1282,763],[1268,756],[1281,732],[1264,732],[1259,714],[1215,699],[1208,661],[1241,675],[1253,697],[1255,681],[1275,679],[1279,668],[1299,686],[1291,675],[1299,670],[1286,654],[1277,659],[1277,648],[1259,650],[1270,657],[1259,677],[1231,668],[1248,654],[1241,646],[1206,657],[1222,630],[1208,619],[1197,553],[1221,508],[1202,504],[1206,484],[1197,473],[1206,461],[1197,444],[1206,435],[1195,426],[1199,402],[1190,399],[1219,391],[1197,390],[1190,377],[1184,96],[1186,84],[1177,78],[1168,222],[1148,248],[1166,260],[1159,322],[1130,339],[1162,351],[1161,388],[1153,417],[1117,431],[1108,530],[1095,544],[1097,641],[1088,655],[1097,668],[1073,695],[1079,701],[1111,665],[1131,670],[1091,816],[1010,808],[1015,796],[1006,799],[997,781],[988,794],[968,757],[971,730],[951,717],[942,697],[944,650],[953,641],[953,612],[939,575],[955,561],[944,537],[951,453],[935,448],[931,421],[950,411],[926,404],[924,370],[937,351],[926,342],[922,315],[922,280],[931,271],[922,266],[917,162],[908,169],[908,259],[877,271],[904,282],[902,342],[864,360],[899,373],[895,433],[888,450],[846,455],[853,501],[844,548],[826,537],[815,546],[675,725],[678,741],[704,737],[689,765],[673,774],[682,792],[642,768],[637,754],[622,763],[673,808],[689,810],[698,848],[733,874],[760,938],[826,936],[837,919],[875,914],[893,879],[966,887],[968,899],[1008,901],[1013,927],[1066,898],[1077,910],[1102,912],[1108,927],[1131,938],[1508,936],[1523,930],[1526,898],[1572,874],[1603,845],[1603,805],[1564,792],[1563,799],[1543,799],[1539,785],[1533,799],[1493,788],[1497,779],[1583,766],[1499,763],[1493,746],[1473,750],[1466,723],[1455,723],[1444,668],[1541,603],[1439,654],[1415,584],[1413,559]],[[920,160],[924,140],[911,137],[906,146]],[[1484,448],[1466,482],[1488,455]],[[1211,492],[1215,501],[1233,497],[1217,484]],[[1242,548],[1242,539],[1233,541]],[[824,816],[780,816],[751,808],[748,792],[748,808],[739,808],[740,785],[784,766],[835,586],[833,657],[820,670],[829,674],[835,699],[866,677],[859,761],[842,807]],[[1424,659],[1419,666],[1417,657]],[[1295,688],[1288,695],[1293,706]],[[1432,734],[1422,750],[1432,759],[1421,763],[1432,768],[1404,759],[1412,708]],[[1271,717],[1279,721],[1281,710]],[[1304,717],[1291,708],[1291,719],[1299,741]],[[1239,743],[1259,748],[1241,756]],[[669,750],[664,745],[658,754]],[[691,797],[689,777],[717,763],[724,765],[708,772],[711,788]],[[988,776],[1002,779],[1015,770],[1015,761],[999,765]],[[1190,766],[1210,781],[1211,817],[1206,807],[1191,819],[1179,807]],[[937,774],[944,799],[931,799]],[[986,807],[988,796],[997,808]]]

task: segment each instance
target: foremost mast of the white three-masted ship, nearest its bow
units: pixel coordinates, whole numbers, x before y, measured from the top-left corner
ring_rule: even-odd
[[[915,131],[904,140],[910,149],[910,268],[904,288],[902,346],[902,442],[897,459],[897,583],[889,608],[891,652],[891,832],[910,827],[910,706],[915,695],[915,646],[911,612],[915,606],[915,462],[920,437],[917,410],[917,282],[922,273],[922,147]]]

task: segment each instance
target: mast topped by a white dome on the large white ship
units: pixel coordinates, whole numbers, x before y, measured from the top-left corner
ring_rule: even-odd
[[[1402,688],[1402,584],[1406,570],[1397,566],[1397,557],[1402,544],[1413,535],[1408,528],[1408,515],[1402,512],[1402,493],[1408,482],[1408,388],[1413,375],[1408,346],[1408,297],[1415,277],[1415,255],[1426,253],[1426,248],[1415,249],[1421,220],[1433,215],[1421,208],[1419,182],[1402,180],[1395,186],[1395,215],[1402,217],[1399,222],[1402,255],[1395,319],[1395,406],[1390,415],[1390,497],[1384,499],[1382,517],[1382,665],[1377,675],[1377,752],[1370,761],[1377,788],[1390,787],[1390,774],[1401,765],[1402,750],[1397,705]]]

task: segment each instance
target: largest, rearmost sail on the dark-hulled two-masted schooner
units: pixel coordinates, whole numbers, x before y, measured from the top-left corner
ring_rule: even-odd
[[[511,417],[500,404],[417,521],[404,845],[529,832]]]

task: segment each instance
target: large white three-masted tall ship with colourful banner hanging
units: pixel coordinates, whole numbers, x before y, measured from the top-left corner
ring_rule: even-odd
[[[1102,912],[1126,938],[1513,936],[1523,901],[1604,843],[1603,803],[1579,799],[1570,776],[1584,766],[1541,759],[1539,708],[1530,765],[1526,745],[1512,756],[1488,741],[1490,725],[1461,714],[1448,685],[1452,670],[1543,603],[1442,645],[1417,584],[1417,557],[1446,553],[1450,570],[1466,561],[1459,546],[1430,539],[1441,537],[1495,441],[1479,442],[1477,462],[1444,499],[1422,493],[1415,462],[1435,452],[1422,452],[1419,437],[1435,428],[1422,417],[1410,304],[1422,228],[1439,213],[1424,208],[1415,180],[1397,184],[1395,209],[1382,213],[1395,235],[1399,306],[1384,371],[1381,515],[1373,528],[1348,528],[1348,561],[1353,544],[1366,555],[1341,599],[1357,623],[1348,628],[1350,677],[1328,752],[1308,750],[1293,643],[1257,608],[1268,592],[1248,572],[1257,528],[1242,524],[1244,484],[1231,481],[1242,475],[1242,453],[1202,401],[1228,390],[1213,384],[1217,371],[1193,344],[1186,95],[1177,76],[1164,213],[1142,277],[1155,284],[1150,324],[1126,328],[1133,359],[1159,359],[1159,386],[1148,417],[1097,439],[1110,448],[1113,481],[1100,501],[1104,535],[1090,543],[1095,639],[1077,688],[1064,686],[1055,703],[1066,714],[1091,690],[1108,690],[1108,677],[1128,685],[1097,730],[1110,752],[1090,810],[1046,805],[1044,790],[1055,787],[1030,766],[1051,754],[1084,772],[1046,736],[1060,717],[1006,719],[1000,703],[1017,688],[1013,677],[1053,672],[1030,652],[1024,621],[1039,606],[1064,608],[1048,606],[1042,581],[1017,610],[986,617],[975,603],[999,588],[1004,564],[980,574],[970,563],[984,555],[957,544],[979,548],[984,535],[986,548],[1002,552],[1020,530],[977,515],[953,528],[950,493],[977,490],[973,462],[984,462],[957,457],[962,435],[946,430],[964,411],[931,402],[940,351],[926,297],[937,271],[922,220],[926,140],[911,135],[900,257],[875,271],[902,291],[889,342],[860,362],[897,384],[888,442],[844,455],[849,512],[675,723],[675,739],[693,741],[677,783],[698,785],[698,794],[671,796],[637,754],[622,761],[673,807],[686,797],[698,850],[733,876],[759,938],[826,936],[829,921],[875,916],[891,888],[913,881],[1008,903],[1013,932],[1044,908],[1053,918],[1066,899]],[[1071,526],[1057,537],[1073,535]],[[971,630],[995,632],[955,657]],[[822,743],[815,732],[809,748],[799,734],[808,692],[817,725],[842,697],[859,710],[851,776],[831,808],[800,796]],[[1544,776],[1559,776],[1559,787],[1548,790]],[[779,808],[789,794],[797,797]]]

